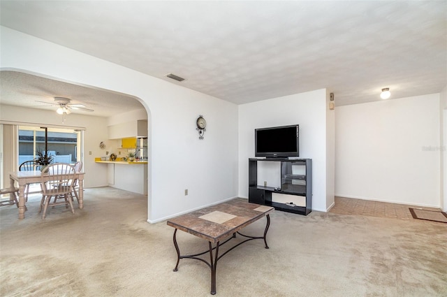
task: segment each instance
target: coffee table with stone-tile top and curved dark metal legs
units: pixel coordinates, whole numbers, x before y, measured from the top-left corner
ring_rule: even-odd
[[[196,259],[203,261],[211,269],[211,294],[216,294],[216,268],[217,261],[219,261],[221,257],[225,256],[235,247],[242,245],[242,243],[254,239],[263,239],[265,248],[268,249],[266,237],[270,226],[270,212],[273,210],[274,208],[270,206],[249,203],[247,202],[247,199],[235,198],[225,203],[213,205],[194,212],[189,212],[186,215],[169,219],[167,222],[168,226],[175,228],[173,240],[175,250],[177,251],[177,264],[175,265],[174,271],[178,270],[180,259]],[[247,236],[239,232],[240,229],[256,222],[262,217],[267,217],[267,224],[265,225],[263,236]],[[207,240],[209,249],[198,254],[180,254],[176,238],[177,230]],[[219,255],[219,247],[233,238],[236,238],[236,233],[247,239],[237,243],[226,250],[226,252]],[[225,241],[221,243],[221,240]],[[213,244],[214,247],[212,247]],[[210,254],[209,262],[199,257],[207,253]]]

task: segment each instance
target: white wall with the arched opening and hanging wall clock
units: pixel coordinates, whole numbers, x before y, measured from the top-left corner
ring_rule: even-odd
[[[151,136],[149,222],[237,196],[235,104],[6,27],[0,29],[2,70],[24,69],[141,99],[149,113]],[[204,140],[198,139],[196,131],[200,114],[207,120]],[[184,196],[184,189],[189,189],[189,196]]]

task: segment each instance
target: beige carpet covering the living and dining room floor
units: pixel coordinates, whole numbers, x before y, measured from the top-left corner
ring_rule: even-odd
[[[210,269],[180,261],[173,228],[148,224],[145,196],[87,189],[85,208],[42,220],[0,208],[1,296],[210,296]],[[252,240],[217,266],[217,296],[447,296],[447,225],[275,211],[265,249]],[[244,233],[262,233],[265,219]],[[182,252],[207,242],[177,234]]]

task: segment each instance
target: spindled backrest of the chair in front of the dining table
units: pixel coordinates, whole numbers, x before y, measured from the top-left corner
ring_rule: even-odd
[[[73,189],[75,167],[65,163],[55,163],[45,167],[41,175],[44,195],[68,194]]]

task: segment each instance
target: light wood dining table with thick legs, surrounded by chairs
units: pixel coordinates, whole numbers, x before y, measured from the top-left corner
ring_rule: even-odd
[[[84,208],[84,175],[83,172],[76,172],[75,179],[78,179],[78,197],[79,208]],[[43,175],[45,178],[45,175]],[[15,182],[19,185],[19,219],[25,217],[25,187],[27,184],[36,184],[42,182],[41,171],[13,171],[9,173],[10,187],[15,187]]]

